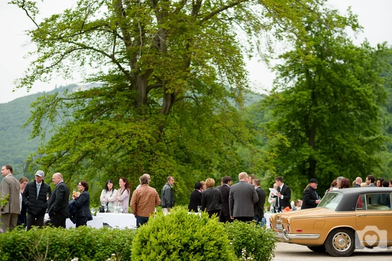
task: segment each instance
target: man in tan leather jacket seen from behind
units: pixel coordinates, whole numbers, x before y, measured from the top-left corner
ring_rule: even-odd
[[[148,185],[147,176],[139,178],[140,187],[133,192],[131,198],[131,209],[136,217],[136,227],[147,223],[148,218],[154,213],[155,206],[161,204],[158,192]]]

